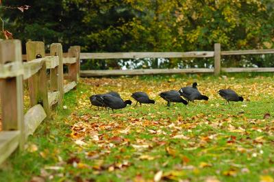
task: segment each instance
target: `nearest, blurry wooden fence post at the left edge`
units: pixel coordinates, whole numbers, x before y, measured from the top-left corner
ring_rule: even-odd
[[[9,62],[18,63],[18,72],[23,69],[20,40],[0,41],[0,64]],[[19,146],[23,149],[25,143],[23,74],[8,79],[0,79],[0,86],[3,131],[19,130]]]

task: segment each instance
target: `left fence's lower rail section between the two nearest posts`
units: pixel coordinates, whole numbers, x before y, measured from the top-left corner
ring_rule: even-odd
[[[30,108],[24,116],[25,122],[25,138],[32,135],[40,123],[47,117],[42,105],[34,105]]]

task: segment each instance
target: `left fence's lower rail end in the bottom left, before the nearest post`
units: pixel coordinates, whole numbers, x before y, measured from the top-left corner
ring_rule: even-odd
[[[18,147],[20,131],[0,132],[0,164],[5,161]]]

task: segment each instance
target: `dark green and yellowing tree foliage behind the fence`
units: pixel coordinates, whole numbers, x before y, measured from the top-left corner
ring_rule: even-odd
[[[31,8],[23,14],[14,10],[3,14],[14,38],[23,43],[29,39],[62,42],[64,50],[79,44],[84,52],[211,51],[215,42],[223,50],[274,47],[272,0],[3,2],[12,7],[23,4]],[[249,63],[258,62],[253,60]],[[170,60],[168,66],[181,61]],[[119,67],[117,62],[105,62],[109,62],[106,68]],[[86,66],[95,67],[103,64]]]

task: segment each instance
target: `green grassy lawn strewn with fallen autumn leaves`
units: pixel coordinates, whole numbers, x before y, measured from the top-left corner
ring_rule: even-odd
[[[209,101],[166,107],[158,96],[197,81]],[[232,88],[244,102],[225,104]],[[94,93],[123,99],[145,91],[155,105],[136,101],[114,114],[90,107]],[[0,170],[4,181],[273,181],[274,84],[269,75],[173,75],[82,79],[65,95],[67,109],[42,123],[26,150]],[[270,113],[271,118],[264,119]],[[0,181],[1,181],[0,180]]]

